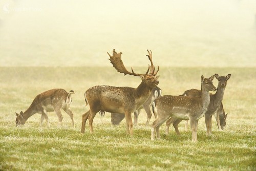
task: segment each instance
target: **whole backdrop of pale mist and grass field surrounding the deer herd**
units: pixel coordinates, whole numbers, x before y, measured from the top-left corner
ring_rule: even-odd
[[[0,170],[255,170],[256,142],[255,1],[0,1]],[[146,49],[160,66],[162,94],[200,89],[200,77],[226,76],[224,131],[212,119],[212,137],[199,120],[198,143],[179,127],[150,140],[151,127],[139,116],[134,136],[125,121],[94,119],[94,134],[80,134],[89,110],[84,92],[95,85],[137,87],[139,77],[123,76],[106,52],[123,52],[127,69],[145,73]],[[217,80],[214,80],[217,86]],[[49,89],[74,90],[71,119],[39,127],[35,114],[23,127],[15,113]],[[154,121],[152,117],[151,123]]]

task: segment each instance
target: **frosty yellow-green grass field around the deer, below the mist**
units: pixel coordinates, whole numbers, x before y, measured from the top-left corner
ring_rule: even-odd
[[[145,72],[146,68],[134,68]],[[231,74],[223,104],[227,117],[224,131],[218,131],[215,119],[213,135],[206,137],[204,119],[199,120],[198,142],[191,142],[191,132],[184,122],[151,141],[151,127],[145,126],[143,111],[134,127],[134,136],[126,135],[125,121],[112,126],[111,117],[94,119],[94,133],[81,134],[85,106],[83,93],[95,85],[137,87],[139,77],[123,76],[113,67],[102,68],[0,68],[0,170],[255,170],[256,169],[256,68],[160,68],[159,87],[163,93],[180,95],[185,90],[200,89],[201,75]],[[217,86],[217,80],[214,80]],[[35,114],[21,127],[15,125],[15,111],[25,111],[34,97],[46,90],[74,90],[70,117],[62,112],[58,126],[55,113],[49,113],[51,128],[39,127]],[[154,121],[152,118],[151,123]]]

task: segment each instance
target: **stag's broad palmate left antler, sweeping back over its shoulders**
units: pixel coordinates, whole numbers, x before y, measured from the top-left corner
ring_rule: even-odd
[[[109,52],[108,52],[108,54],[109,54]],[[110,62],[113,64],[113,67],[115,67],[115,69],[118,72],[123,73],[124,75],[129,74],[129,75],[134,75],[134,76],[140,76],[141,74],[134,73],[133,68],[132,68],[132,72],[129,72],[126,70],[126,68],[123,65],[121,55],[122,55],[122,52],[116,53],[115,49],[113,49],[113,56],[111,56],[109,54]],[[148,67],[148,70],[149,69],[150,68]],[[148,70],[147,70],[147,72],[148,72]]]

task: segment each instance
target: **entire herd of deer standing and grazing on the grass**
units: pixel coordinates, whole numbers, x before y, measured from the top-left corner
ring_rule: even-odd
[[[222,99],[224,90],[227,85],[227,80],[231,74],[227,76],[212,75],[209,78],[201,76],[201,90],[191,89],[185,91],[183,95],[161,96],[161,89],[157,87],[159,84],[157,71],[153,65],[152,52],[148,51],[148,59],[151,65],[145,74],[138,74],[133,71],[127,71],[124,67],[121,52],[116,53],[113,50],[113,55],[110,56],[110,61],[114,68],[124,75],[129,74],[139,76],[141,83],[137,88],[130,87],[112,87],[112,86],[94,86],[84,93],[86,105],[89,104],[90,110],[82,115],[81,133],[84,133],[84,127],[87,119],[89,119],[90,132],[93,132],[93,119],[96,113],[110,112],[113,125],[118,125],[125,117],[126,133],[133,134],[132,113],[134,113],[134,125],[137,125],[138,115],[141,109],[145,109],[147,113],[146,125],[150,122],[152,113],[151,107],[156,120],[152,124],[151,139],[160,138],[159,127],[166,122],[166,134],[168,134],[169,125],[173,123],[176,133],[179,135],[178,124],[182,120],[190,120],[192,131],[192,140],[197,141],[198,120],[205,116],[207,135],[211,135],[211,117],[215,114],[219,129],[224,130],[226,125],[227,115],[224,112]],[[216,77],[219,81],[218,88],[212,84],[212,80]],[[216,91],[215,94],[210,94],[209,91]],[[53,89],[43,92],[35,97],[29,108],[23,113],[16,113],[16,125],[25,124],[26,120],[35,113],[41,114],[40,125],[46,119],[48,127],[50,127],[47,112],[55,112],[58,116],[59,123],[62,121],[61,109],[64,110],[72,120],[74,126],[74,114],[70,109],[72,102],[71,95],[63,89]],[[186,122],[187,127],[187,122]]]

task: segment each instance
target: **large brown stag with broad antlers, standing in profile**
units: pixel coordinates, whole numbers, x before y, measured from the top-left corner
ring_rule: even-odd
[[[90,132],[93,132],[93,118],[97,112],[104,113],[123,113],[126,120],[126,133],[133,134],[133,122],[131,114],[138,110],[140,106],[148,99],[153,88],[155,88],[159,81],[155,72],[155,67],[152,61],[152,52],[148,51],[148,59],[151,61],[151,67],[148,66],[146,74],[134,73],[126,70],[121,60],[121,54],[113,50],[113,56],[110,56],[110,61],[114,68],[124,75],[140,76],[142,82],[137,88],[130,87],[112,87],[112,86],[94,86],[84,93],[86,105],[89,104],[90,110],[82,116],[81,132],[84,133],[84,126],[89,118]],[[148,74],[148,71],[151,72]]]

